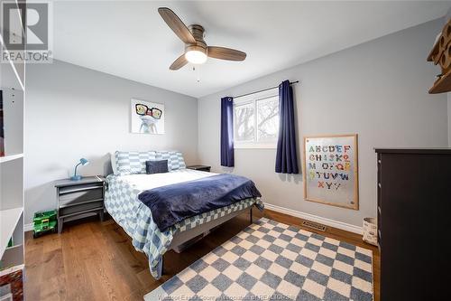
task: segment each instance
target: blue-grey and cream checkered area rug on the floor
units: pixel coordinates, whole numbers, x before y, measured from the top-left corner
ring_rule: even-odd
[[[144,300],[373,300],[373,252],[262,218]]]

